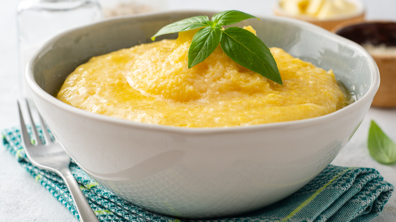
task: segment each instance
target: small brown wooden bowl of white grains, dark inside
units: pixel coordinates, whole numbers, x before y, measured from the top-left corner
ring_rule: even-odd
[[[376,61],[381,83],[372,105],[396,107],[396,22],[348,23],[332,31],[360,44]]]

